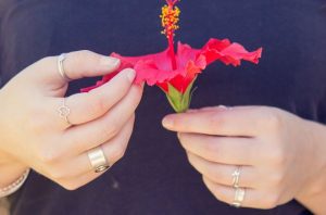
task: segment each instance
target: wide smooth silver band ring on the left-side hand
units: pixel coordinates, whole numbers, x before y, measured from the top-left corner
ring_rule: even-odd
[[[87,155],[95,173],[101,173],[111,167],[101,147],[89,150]]]

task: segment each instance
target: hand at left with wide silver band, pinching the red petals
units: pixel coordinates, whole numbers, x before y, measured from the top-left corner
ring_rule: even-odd
[[[88,93],[70,96],[65,99],[68,124],[57,111],[67,89],[57,58],[28,66],[0,90],[0,167],[16,169],[15,177],[30,167],[74,190],[101,175],[90,165],[89,150],[101,146],[111,165],[124,155],[142,87],[133,85],[135,71],[127,68]],[[68,53],[63,64],[65,74],[78,79],[114,72],[120,62],[78,51]],[[1,178],[10,184],[9,175],[2,172]]]

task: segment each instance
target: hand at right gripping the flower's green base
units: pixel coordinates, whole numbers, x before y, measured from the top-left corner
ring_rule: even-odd
[[[209,190],[231,204],[240,167],[241,206],[272,208],[294,199],[322,168],[310,122],[266,106],[205,108],[168,115],[190,164]]]

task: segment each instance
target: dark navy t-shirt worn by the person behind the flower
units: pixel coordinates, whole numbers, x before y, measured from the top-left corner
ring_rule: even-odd
[[[199,88],[192,108],[271,105],[324,123],[325,3],[324,0],[181,1],[176,39],[201,47],[210,37],[227,37],[249,50],[264,48],[259,65],[209,66],[197,80]],[[0,2],[1,85],[46,55],[80,49],[124,55],[163,50],[166,41],[160,35],[159,18],[162,4],[163,0],[3,0]],[[74,81],[68,93],[92,84],[91,78]],[[122,161],[76,191],[66,191],[32,173],[11,198],[12,214],[306,213],[296,201],[261,211],[237,210],[216,200],[189,165],[175,134],[161,127],[162,117],[171,112],[164,93],[147,87]]]

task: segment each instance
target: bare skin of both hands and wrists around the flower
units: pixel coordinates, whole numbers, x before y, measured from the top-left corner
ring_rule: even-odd
[[[79,51],[64,61],[72,79],[113,72],[118,62]],[[74,190],[95,174],[87,151],[102,146],[110,164],[126,150],[142,87],[126,69],[89,93],[66,99],[67,124],[57,109],[67,83],[57,71],[57,56],[22,71],[0,90],[0,187],[33,168]],[[326,128],[267,106],[205,108],[164,118],[178,134],[190,164],[220,200],[231,203],[233,172],[241,166],[244,207],[272,208],[297,199],[315,214],[326,214]],[[324,204],[323,204],[324,203]]]

